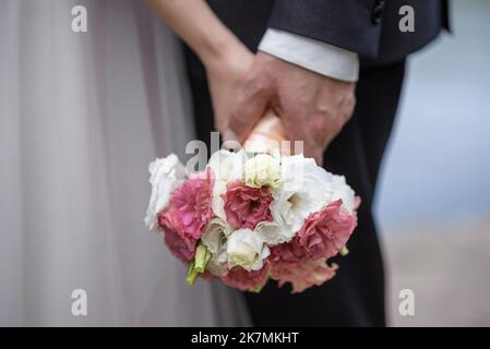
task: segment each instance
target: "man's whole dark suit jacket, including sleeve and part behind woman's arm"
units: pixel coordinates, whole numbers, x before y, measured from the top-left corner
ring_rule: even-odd
[[[267,27],[357,52],[361,64],[404,59],[449,29],[446,0],[208,0],[211,8],[252,51]],[[402,5],[415,12],[415,32],[402,33]],[[202,74],[195,57],[191,72]]]

